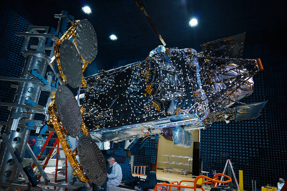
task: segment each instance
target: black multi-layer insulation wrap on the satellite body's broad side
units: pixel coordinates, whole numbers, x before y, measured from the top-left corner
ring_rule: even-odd
[[[193,92],[200,89],[196,51],[160,46],[150,55],[86,78],[83,119],[88,128],[148,122],[170,115],[170,106],[175,114],[195,103]]]

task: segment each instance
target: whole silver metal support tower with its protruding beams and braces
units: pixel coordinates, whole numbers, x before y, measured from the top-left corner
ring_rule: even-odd
[[[30,130],[26,128],[26,122],[34,121],[35,125],[37,126],[36,133],[38,133],[40,130],[39,126],[41,127],[41,125],[43,124],[41,121],[33,120],[35,115],[34,113],[35,111],[39,112],[40,110],[40,112],[43,111],[43,114],[47,114],[47,112],[44,112],[47,111],[47,107],[40,106],[41,108],[37,108],[38,104],[36,104],[36,106],[27,105],[27,100],[31,100],[35,103],[38,103],[41,90],[50,92],[56,91],[56,88],[51,87],[52,78],[49,78],[49,76],[51,77],[52,73],[47,73],[48,84],[45,85],[44,83],[41,83],[41,80],[33,78],[35,76],[31,75],[31,70],[34,70],[42,77],[45,77],[47,66],[50,65],[55,76],[59,79],[59,83],[62,84],[61,78],[59,77],[59,74],[55,71],[54,68],[54,43],[50,47],[46,47],[45,43],[47,38],[50,38],[52,41],[55,41],[58,38],[60,28],[62,27],[63,18],[69,19],[69,15],[64,15],[64,13],[65,12],[62,11],[61,14],[54,15],[55,18],[59,19],[55,34],[49,34],[48,32],[50,27],[47,26],[29,26],[28,32],[15,33],[16,36],[21,36],[25,38],[21,52],[23,53],[23,56],[26,58],[26,60],[23,66],[21,76],[20,78],[0,77],[0,81],[5,80],[19,82],[13,103],[0,102],[1,106],[8,106],[8,109],[10,110],[8,122],[0,122],[0,128],[2,128],[2,125],[6,125],[4,132],[4,137],[6,137],[6,143],[10,146],[10,150],[12,149],[11,151],[13,151],[13,149],[14,151],[18,151],[21,158],[24,157],[26,150],[25,147],[27,145],[27,141],[30,134]],[[38,45],[31,45],[30,47],[28,47],[29,40],[31,37],[38,38]],[[33,50],[28,50],[27,47],[28,49],[30,48]],[[46,55],[45,50],[51,50],[50,56]],[[37,76],[35,78],[37,78]],[[15,85],[14,87],[16,88]],[[48,98],[48,102],[50,102],[51,99],[51,97]],[[46,116],[46,119],[47,117],[48,116]],[[23,122],[25,123],[25,125],[23,124]],[[48,130],[54,131],[54,129],[51,128],[48,128]],[[15,154],[13,152],[11,153]],[[17,168],[17,164],[15,164],[15,160],[12,157],[11,153],[7,149],[6,144],[0,140],[0,191],[10,191],[15,188],[27,190],[27,185],[17,184],[22,182],[23,180],[18,181],[20,170]],[[47,183],[47,180],[45,181],[45,183]],[[63,186],[57,183],[48,183],[48,185],[60,185],[59,187],[73,189],[77,188],[75,186]],[[35,187],[33,188],[33,190],[52,189],[38,189]]]

